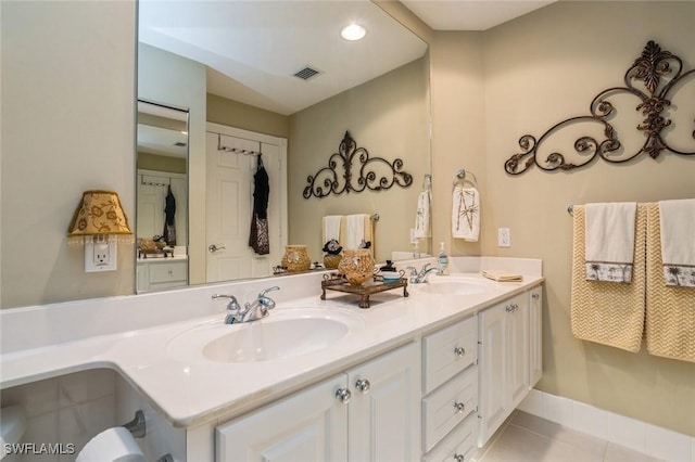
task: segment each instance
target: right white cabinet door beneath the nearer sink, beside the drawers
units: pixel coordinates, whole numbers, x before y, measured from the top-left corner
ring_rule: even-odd
[[[352,390],[349,459],[419,460],[419,344],[410,343],[353,369],[348,383]]]

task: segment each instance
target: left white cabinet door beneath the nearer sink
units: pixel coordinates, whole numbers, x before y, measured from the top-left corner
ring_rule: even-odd
[[[341,374],[216,429],[216,460],[348,460],[348,406],[336,398]]]

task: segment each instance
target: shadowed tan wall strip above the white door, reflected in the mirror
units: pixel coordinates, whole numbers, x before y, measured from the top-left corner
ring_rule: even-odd
[[[207,93],[207,121],[278,138],[290,134],[288,116],[211,93]]]

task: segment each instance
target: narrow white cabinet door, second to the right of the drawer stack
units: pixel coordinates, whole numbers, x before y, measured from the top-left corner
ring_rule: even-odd
[[[507,410],[511,412],[529,393],[529,303],[528,294],[505,304],[507,318]],[[506,418],[505,418],[506,419]]]

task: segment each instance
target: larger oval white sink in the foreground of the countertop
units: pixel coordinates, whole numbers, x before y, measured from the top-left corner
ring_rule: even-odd
[[[362,326],[362,318],[348,310],[288,308],[249,323],[224,324],[220,318],[199,325],[172,338],[167,351],[188,360],[270,361],[327,348]]]

